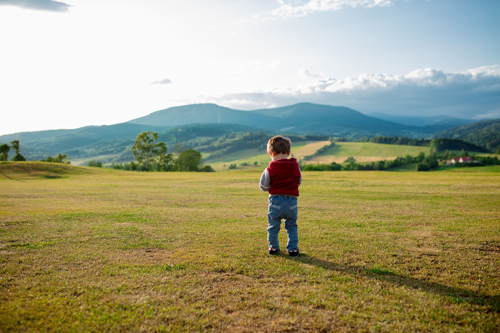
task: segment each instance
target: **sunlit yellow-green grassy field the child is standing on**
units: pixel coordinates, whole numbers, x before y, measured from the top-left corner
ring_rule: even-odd
[[[303,172],[296,259],[260,171],[1,163],[0,331],[500,330],[500,167]]]

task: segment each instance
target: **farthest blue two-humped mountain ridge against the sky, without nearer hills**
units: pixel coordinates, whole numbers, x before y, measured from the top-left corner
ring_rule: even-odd
[[[191,123],[230,123],[291,133],[329,135],[402,135],[429,137],[435,128],[398,124],[367,116],[348,107],[313,103],[243,111],[216,104],[174,106],[129,120],[143,125],[177,126]],[[442,128],[440,128],[442,129]]]

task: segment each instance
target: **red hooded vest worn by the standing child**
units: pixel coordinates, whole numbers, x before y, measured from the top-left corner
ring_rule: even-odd
[[[300,169],[296,158],[270,161],[267,172],[271,179],[269,194],[287,194],[298,197]]]

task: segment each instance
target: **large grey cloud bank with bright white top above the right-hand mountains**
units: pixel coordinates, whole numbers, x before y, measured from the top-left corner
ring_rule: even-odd
[[[343,79],[314,77],[296,86],[209,99],[211,103],[246,110],[312,102],[347,106],[363,113],[494,118],[500,116],[500,66],[461,72],[424,68],[405,75],[366,73]]]

